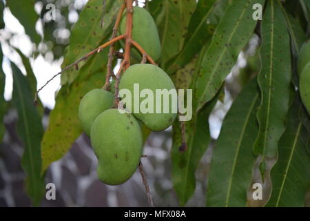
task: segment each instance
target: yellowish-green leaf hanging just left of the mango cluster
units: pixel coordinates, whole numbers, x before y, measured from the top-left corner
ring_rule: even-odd
[[[42,173],[48,166],[61,159],[82,133],[78,118],[79,103],[83,96],[94,88],[101,88],[105,80],[108,48],[92,57],[79,70],[73,84],[62,86],[56,97],[55,108],[50,113],[48,129],[42,145]]]

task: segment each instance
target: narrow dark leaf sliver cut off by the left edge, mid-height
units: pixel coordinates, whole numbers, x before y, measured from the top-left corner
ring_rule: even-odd
[[[4,87],[6,86],[6,75],[4,74],[2,69],[2,59],[3,59],[3,52],[2,48],[0,47],[0,142],[6,130],[3,123],[3,117],[6,114],[6,108],[7,108],[6,100],[4,99]]]

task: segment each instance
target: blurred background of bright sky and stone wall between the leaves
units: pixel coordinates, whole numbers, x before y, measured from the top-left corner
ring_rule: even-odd
[[[5,1],[0,0],[5,3]],[[79,12],[87,0],[41,0],[34,1],[34,8],[40,19],[35,30],[42,40],[37,45],[25,34],[21,23],[12,15],[9,8],[3,10],[5,28],[0,30],[0,42],[3,50],[3,70],[6,74],[4,97],[12,98],[12,70],[9,60],[25,74],[21,55],[30,58],[38,88],[45,84],[55,73],[61,70],[63,53],[68,46],[70,30],[79,18]],[[48,4],[56,6],[56,19],[48,18]],[[139,6],[145,1],[139,0]],[[2,16],[1,16],[2,17]],[[258,71],[255,59],[258,37],[251,39],[249,46],[240,53],[238,63],[231,70],[225,84],[225,97],[216,104],[209,117],[211,142],[200,161],[196,173],[196,191],[187,206],[205,206],[207,172],[213,150],[214,140],[220,133],[225,114],[245,82]],[[17,50],[16,50],[17,49]],[[20,50],[18,52],[18,50]],[[247,59],[246,59],[247,58]],[[247,62],[248,61],[248,62]],[[252,63],[249,63],[252,62]],[[117,69],[118,66],[115,67]],[[44,106],[43,127],[48,126],[48,113],[54,108],[55,93],[60,88],[60,77],[56,77],[40,93]],[[23,146],[16,133],[17,111],[13,108],[4,117],[6,133],[0,144],[0,206],[31,206],[24,191],[25,174],[20,160]],[[152,133],[144,148],[143,169],[147,175],[155,206],[178,206],[171,178],[170,150],[172,146],[171,128],[160,133]],[[41,206],[148,206],[141,175],[134,176],[120,186],[107,186],[96,176],[97,160],[90,146],[90,139],[81,135],[63,159],[54,162],[48,169],[45,183],[56,185],[56,200],[43,200]]]

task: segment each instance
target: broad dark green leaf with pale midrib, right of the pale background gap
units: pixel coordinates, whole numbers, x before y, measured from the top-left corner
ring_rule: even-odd
[[[224,119],[211,159],[207,206],[246,206],[256,160],[260,95],[256,79],[242,89]]]

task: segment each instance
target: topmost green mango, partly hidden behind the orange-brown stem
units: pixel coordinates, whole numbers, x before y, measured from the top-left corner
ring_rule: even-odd
[[[126,19],[121,20],[120,32],[125,34]],[[159,40],[156,23],[151,14],[144,8],[134,7],[134,19],[132,22],[132,39],[157,61],[161,57],[161,41]],[[136,48],[132,48],[132,57],[141,61],[142,56]]]

